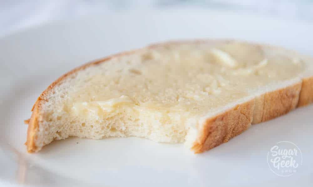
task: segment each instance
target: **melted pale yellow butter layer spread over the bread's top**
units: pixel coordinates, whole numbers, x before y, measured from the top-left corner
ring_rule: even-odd
[[[74,113],[127,109],[158,111],[165,120],[172,113],[189,117],[248,96],[249,90],[293,78],[305,68],[301,59],[238,42],[169,45],[145,51],[141,58],[116,61],[81,76],[68,101]]]

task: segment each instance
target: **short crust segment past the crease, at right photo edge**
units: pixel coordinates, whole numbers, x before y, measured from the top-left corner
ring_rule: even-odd
[[[305,106],[313,102],[313,76],[302,80],[302,88],[298,102],[299,106]]]

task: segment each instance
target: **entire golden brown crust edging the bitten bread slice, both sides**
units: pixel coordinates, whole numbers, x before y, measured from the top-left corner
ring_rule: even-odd
[[[227,42],[231,40],[217,41]],[[166,44],[205,42],[214,42],[214,40],[167,42],[165,44],[154,44],[148,46],[147,48],[154,48]],[[27,141],[25,143],[27,146],[27,151],[29,153],[33,153],[41,149],[35,145],[37,140],[37,132],[39,130],[40,108],[44,102],[47,102],[45,96],[54,88],[54,86],[59,85],[61,81],[63,81],[69,75],[73,75],[74,73],[80,70],[84,70],[87,67],[103,63],[114,57],[134,54],[139,50],[141,49],[123,52],[100,60],[92,61],[69,71],[50,84],[48,88],[41,93],[33,105],[31,110],[33,113],[30,119],[28,121],[25,120],[26,123],[28,122]],[[313,76],[304,78],[299,83],[287,86],[286,88],[264,93],[263,95],[257,96],[250,101],[239,104],[227,110],[226,112],[208,118],[205,120],[205,123],[199,127],[199,135],[196,138],[196,141],[193,143],[191,150],[194,151],[194,153],[202,153],[222,143],[228,142],[229,139],[248,129],[251,124],[257,124],[275,117],[279,117],[298,106],[304,106],[311,102],[313,102]]]

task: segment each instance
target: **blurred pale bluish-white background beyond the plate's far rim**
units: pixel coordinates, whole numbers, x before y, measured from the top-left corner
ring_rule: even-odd
[[[0,0],[0,37],[41,23],[104,12],[199,8],[313,23],[313,0]]]

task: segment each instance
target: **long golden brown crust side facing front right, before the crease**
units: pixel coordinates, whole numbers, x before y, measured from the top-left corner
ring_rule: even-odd
[[[312,82],[310,84],[312,86]],[[301,86],[303,84],[299,82],[265,93],[216,117],[209,118],[199,129],[200,135],[191,149],[195,153],[202,153],[228,142],[230,138],[248,129],[251,123],[265,122],[290,112],[298,105]]]

